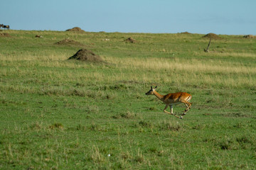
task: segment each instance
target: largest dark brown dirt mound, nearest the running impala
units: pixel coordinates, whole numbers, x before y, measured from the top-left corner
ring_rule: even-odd
[[[87,49],[78,50],[78,52],[76,52],[75,55],[68,58],[68,60],[70,59],[76,59],[76,60],[88,61],[88,62],[103,62],[100,56],[95,55],[95,53]]]

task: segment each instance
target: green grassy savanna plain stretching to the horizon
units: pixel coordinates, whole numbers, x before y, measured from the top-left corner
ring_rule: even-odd
[[[256,38],[0,33],[0,169],[255,169]],[[105,62],[67,60],[82,47]],[[156,85],[193,96],[183,120]]]

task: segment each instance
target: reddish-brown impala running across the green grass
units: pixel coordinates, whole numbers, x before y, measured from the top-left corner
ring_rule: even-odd
[[[174,94],[161,95],[156,92],[156,87],[152,88],[152,86],[151,86],[151,89],[148,92],[146,92],[146,95],[154,94],[154,96],[156,96],[157,98],[159,98],[160,101],[163,101],[166,104],[166,106],[164,108],[165,113],[174,115],[176,118],[182,119],[183,115],[186,115],[186,112],[191,108],[192,103],[189,102],[192,98],[191,94],[187,94],[185,92],[178,92],[178,93],[174,93]],[[173,106],[178,103],[184,103],[186,105],[186,110],[181,115],[181,117],[178,117],[178,115],[174,114],[174,112],[173,112]],[[166,111],[166,108],[168,108],[169,106],[171,108],[171,113]]]

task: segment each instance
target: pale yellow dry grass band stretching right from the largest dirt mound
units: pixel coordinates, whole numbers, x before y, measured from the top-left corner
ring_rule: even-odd
[[[182,60],[175,59],[169,60],[166,58],[126,58],[126,59],[110,59],[111,62],[118,64],[119,67],[125,69],[143,69],[143,70],[154,70],[154,71],[163,71],[169,70],[170,72],[223,72],[223,73],[242,73],[242,74],[256,74],[255,67],[247,67],[245,65],[234,65],[230,62],[215,61],[215,60]]]

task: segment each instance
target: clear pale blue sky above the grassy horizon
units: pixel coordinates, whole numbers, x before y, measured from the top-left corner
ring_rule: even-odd
[[[256,35],[255,0],[0,0],[14,30]]]

